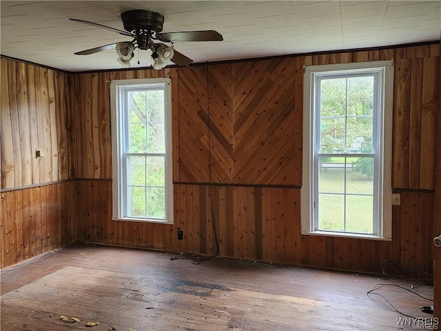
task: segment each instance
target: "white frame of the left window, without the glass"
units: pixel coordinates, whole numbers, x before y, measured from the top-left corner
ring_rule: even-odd
[[[125,130],[127,114],[123,107],[123,90],[127,88],[163,88],[165,107],[165,218],[148,219],[127,216],[127,171],[125,159]],[[112,113],[112,219],[117,221],[145,221],[173,223],[173,171],[172,171],[172,91],[169,78],[122,79],[110,83]]]

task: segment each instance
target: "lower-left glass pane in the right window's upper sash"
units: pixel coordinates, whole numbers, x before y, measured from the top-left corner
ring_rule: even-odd
[[[345,152],[345,117],[320,119],[320,153]]]

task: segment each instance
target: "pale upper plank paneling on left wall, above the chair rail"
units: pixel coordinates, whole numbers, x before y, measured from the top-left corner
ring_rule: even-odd
[[[1,188],[74,178],[72,75],[0,61]],[[36,158],[37,149],[43,158]]]

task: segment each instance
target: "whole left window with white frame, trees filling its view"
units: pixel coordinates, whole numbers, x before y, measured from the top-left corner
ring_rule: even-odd
[[[113,219],[173,222],[170,79],[112,81]]]

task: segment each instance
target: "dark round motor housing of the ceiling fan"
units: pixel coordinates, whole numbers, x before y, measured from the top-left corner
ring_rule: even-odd
[[[134,34],[139,32],[163,30],[164,17],[158,12],[149,10],[129,10],[121,14],[124,29]]]

